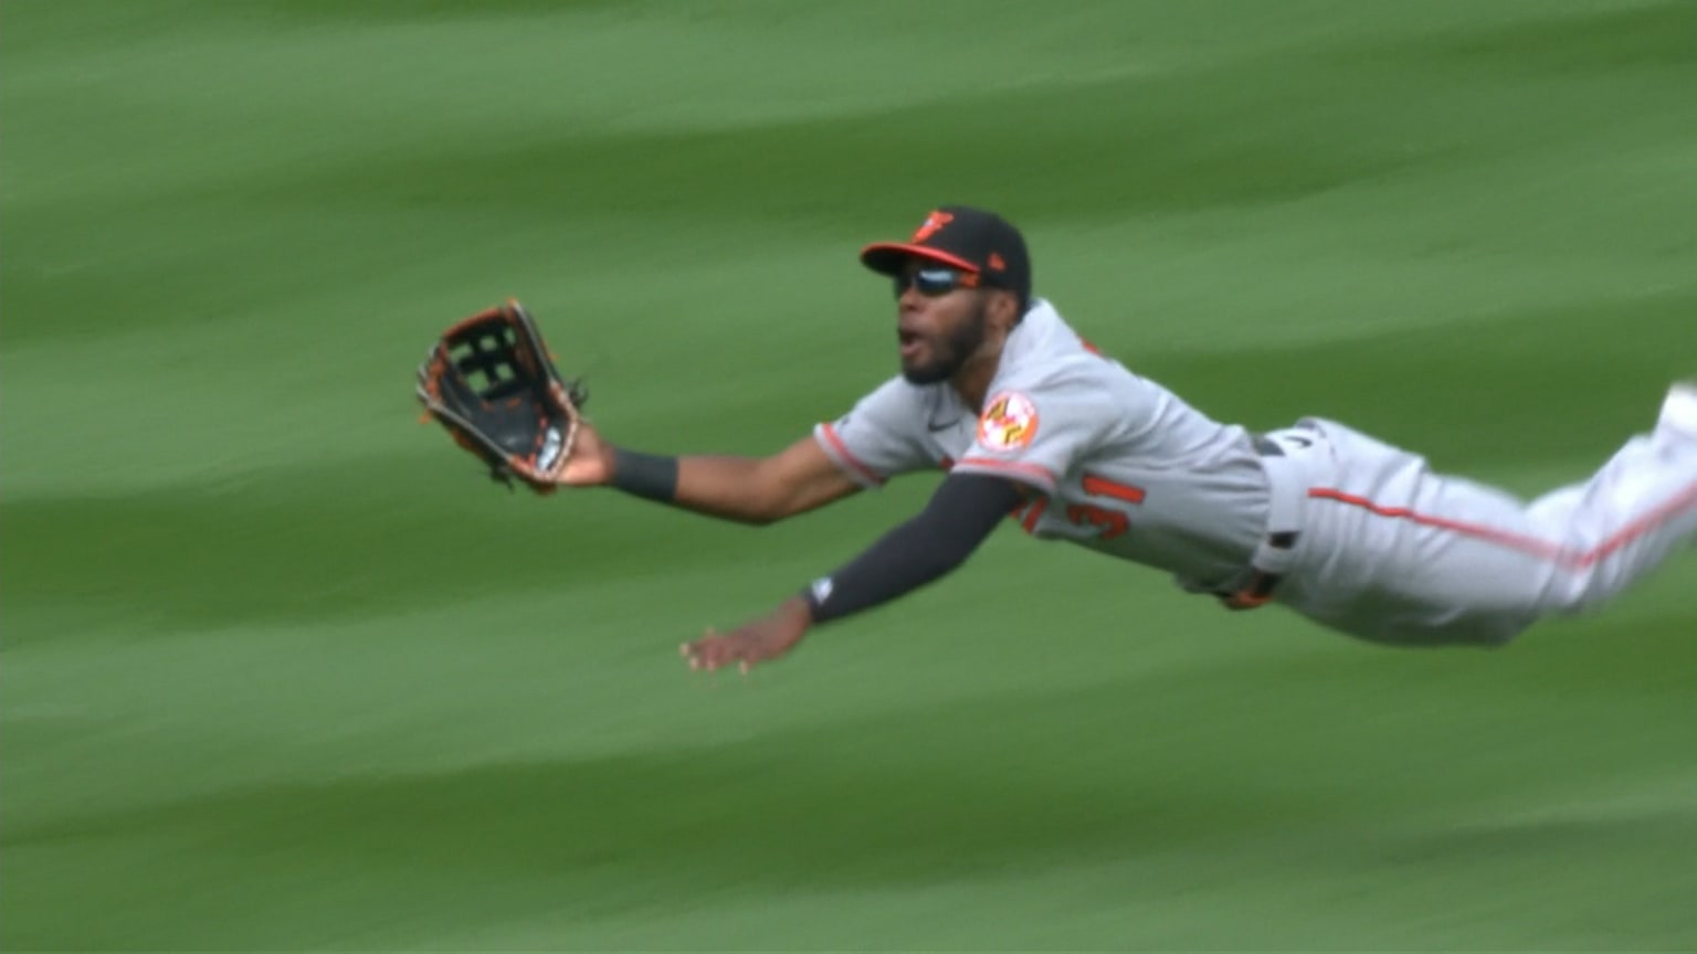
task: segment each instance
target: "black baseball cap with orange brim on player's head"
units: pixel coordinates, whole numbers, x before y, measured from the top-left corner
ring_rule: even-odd
[[[942,205],[925,216],[910,241],[872,243],[860,250],[860,263],[881,275],[898,275],[910,258],[976,272],[983,285],[1017,294],[1022,312],[1032,300],[1032,256],[1025,251],[1025,238],[994,212]]]

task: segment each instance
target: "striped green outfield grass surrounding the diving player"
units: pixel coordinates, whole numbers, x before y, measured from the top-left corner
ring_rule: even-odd
[[[1218,418],[1580,479],[1697,370],[1697,5],[3,17],[7,951],[1697,947],[1690,557],[1414,654],[1010,528],[691,677],[932,480],[509,496],[411,401],[518,295],[614,440],[776,448],[959,200]]]

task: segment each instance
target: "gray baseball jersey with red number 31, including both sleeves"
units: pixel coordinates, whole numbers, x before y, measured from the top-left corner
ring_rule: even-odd
[[[996,474],[1037,491],[1039,538],[1222,586],[1268,526],[1251,435],[1220,424],[1079,338],[1039,299],[1008,336],[984,407],[894,377],[815,440],[865,487],[915,470]]]

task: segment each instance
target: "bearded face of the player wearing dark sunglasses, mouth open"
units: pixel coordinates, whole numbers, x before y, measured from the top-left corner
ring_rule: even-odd
[[[908,265],[896,278],[896,340],[901,377],[938,384],[954,377],[984,345],[989,302],[972,273]]]

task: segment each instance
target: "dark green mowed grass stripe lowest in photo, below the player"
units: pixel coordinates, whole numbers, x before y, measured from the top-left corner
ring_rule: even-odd
[[[216,844],[217,854],[202,852],[199,861],[185,859],[168,873],[173,893],[202,900],[210,893],[214,901],[246,905],[251,898],[244,891],[316,884],[292,891],[295,900],[282,905],[288,910],[302,898],[316,898],[328,908],[314,912],[311,937],[358,932],[373,918],[370,910],[336,906],[336,898],[370,891],[334,874],[360,859],[417,886],[414,898],[433,896],[453,878],[472,874],[485,884],[511,883],[506,900],[480,901],[492,905],[484,910],[557,918],[563,910],[572,915],[567,923],[594,935],[594,922],[604,917],[652,917],[674,896],[687,912],[697,891],[770,900],[774,891],[806,896],[889,884],[920,889],[994,881],[1013,871],[1044,881],[1101,866],[1117,866],[1125,878],[1132,861],[1144,888],[1125,913],[1144,917],[1151,913],[1147,903],[1135,898],[1162,881],[1173,888],[1200,878],[1195,889],[1215,898],[1229,891],[1254,905],[1259,895],[1280,889],[1281,879],[1263,871],[1274,859],[1286,871],[1293,864],[1313,866],[1317,871],[1308,874],[1320,883],[1337,883],[1339,869],[1347,869],[1371,884],[1375,864],[1390,866],[1383,871],[1386,881],[1407,881],[1407,874],[1392,871],[1410,856],[1471,856],[1475,861],[1451,871],[1444,883],[1415,874],[1429,893],[1448,895],[1458,881],[1488,884],[1504,869],[1524,878],[1568,850],[1595,862],[1597,849],[1612,844],[1619,850],[1621,833],[1631,832],[1621,828],[1607,837],[1605,830],[1638,823],[1633,813],[1617,822],[1575,818],[1575,828],[1563,837],[1560,817],[1512,820],[1515,793],[1526,803],[1551,803],[1551,793],[1566,784],[1568,759],[1583,757],[1599,774],[1617,766],[1614,784],[1644,762],[1653,742],[1629,738],[1621,745],[1612,737],[1610,730],[1633,721],[1621,718],[1619,706],[1602,725],[1593,723],[1602,708],[1568,706],[1560,715],[1548,704],[1527,706],[1521,718],[1541,720],[1549,740],[1548,747],[1527,747],[1524,733],[1502,718],[1512,710],[1488,693],[1434,698],[1405,686],[1392,698],[1375,698],[1380,689],[1363,687],[1351,696],[1327,686],[1325,696],[1303,696],[1300,686],[1286,684],[1283,699],[1268,693],[1256,699],[1266,708],[1251,711],[1244,699],[1215,704],[1232,694],[1232,682],[1203,676],[1054,696],[1001,694],[976,704],[901,706],[882,720],[862,716],[804,732],[779,728],[699,750],[497,762],[429,774],[384,771],[378,757],[367,771],[333,772],[307,786],[272,783],[175,806],[97,813],[66,827],[25,828],[15,847],[27,852],[83,839],[143,864],[161,837]],[[1339,718],[1341,703],[1354,703],[1349,720]],[[1481,723],[1468,703],[1488,704],[1498,718]],[[1475,745],[1471,754],[1446,757],[1432,745],[1419,750],[1385,744],[1410,730],[1422,737],[1449,733]],[[1246,732],[1280,744],[1244,750],[1235,740]],[[1052,745],[1057,737],[1069,744]],[[1217,759],[1215,752],[1230,757]],[[1656,784],[1653,777],[1644,784]],[[1683,777],[1689,781],[1689,772]],[[1675,788],[1666,791],[1682,791],[1678,779],[1670,777]],[[857,798],[842,800],[843,789]],[[1351,798],[1317,800],[1315,791],[1349,791]],[[1583,789],[1580,798],[1587,798]],[[1673,801],[1670,822],[1683,825],[1678,805]],[[1458,815],[1470,822],[1449,840],[1446,832],[1456,830]],[[1437,818],[1451,822],[1434,827]],[[1651,813],[1648,823],[1658,825],[1655,818]],[[1548,832],[1532,837],[1539,828]],[[343,832],[356,833],[350,839]],[[119,866],[112,876],[124,871]],[[227,881],[226,871],[244,878]],[[1168,878],[1159,878],[1162,873]],[[336,883],[343,891],[333,898],[326,884]],[[1537,884],[1539,891],[1560,889],[1561,879],[1544,873]],[[136,891],[114,889],[119,898]],[[1649,886],[1649,898],[1668,889]],[[1524,896],[1529,883],[1498,893]],[[417,900],[387,905],[389,937],[395,929],[407,937],[407,925],[446,920]],[[854,910],[855,901],[838,905]],[[139,906],[120,903],[115,910],[136,920],[109,929],[127,927],[146,937],[146,920],[136,917]],[[969,923],[947,920],[928,923],[928,934],[918,937],[988,940]],[[1122,930],[1137,927],[1127,922]],[[1208,929],[1190,923],[1190,930]],[[193,937],[222,944],[232,935],[199,925]]]

